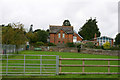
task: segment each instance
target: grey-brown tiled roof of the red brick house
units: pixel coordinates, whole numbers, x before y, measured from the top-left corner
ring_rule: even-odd
[[[50,33],[58,33],[60,30],[63,30],[67,34],[73,34],[73,27],[72,26],[54,26],[50,25]]]

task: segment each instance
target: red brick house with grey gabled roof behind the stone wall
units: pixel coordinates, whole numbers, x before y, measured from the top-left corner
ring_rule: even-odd
[[[73,26],[50,25],[50,43],[64,44],[68,42],[80,42],[82,37],[73,30]]]

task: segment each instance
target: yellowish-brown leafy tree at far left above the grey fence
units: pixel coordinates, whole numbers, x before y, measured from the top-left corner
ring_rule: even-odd
[[[8,24],[2,27],[2,43],[19,45],[25,44],[27,38],[25,36],[24,25],[21,23]]]

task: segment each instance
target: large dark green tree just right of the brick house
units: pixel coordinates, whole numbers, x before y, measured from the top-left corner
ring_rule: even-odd
[[[97,37],[100,36],[100,31],[97,26],[96,19],[90,18],[87,22],[79,29],[78,34],[83,37],[84,40],[91,40],[94,38],[95,33]]]

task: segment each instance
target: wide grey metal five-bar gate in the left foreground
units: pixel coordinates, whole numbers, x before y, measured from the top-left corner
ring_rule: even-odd
[[[2,75],[58,75],[59,56],[57,55],[20,55],[2,56]]]

